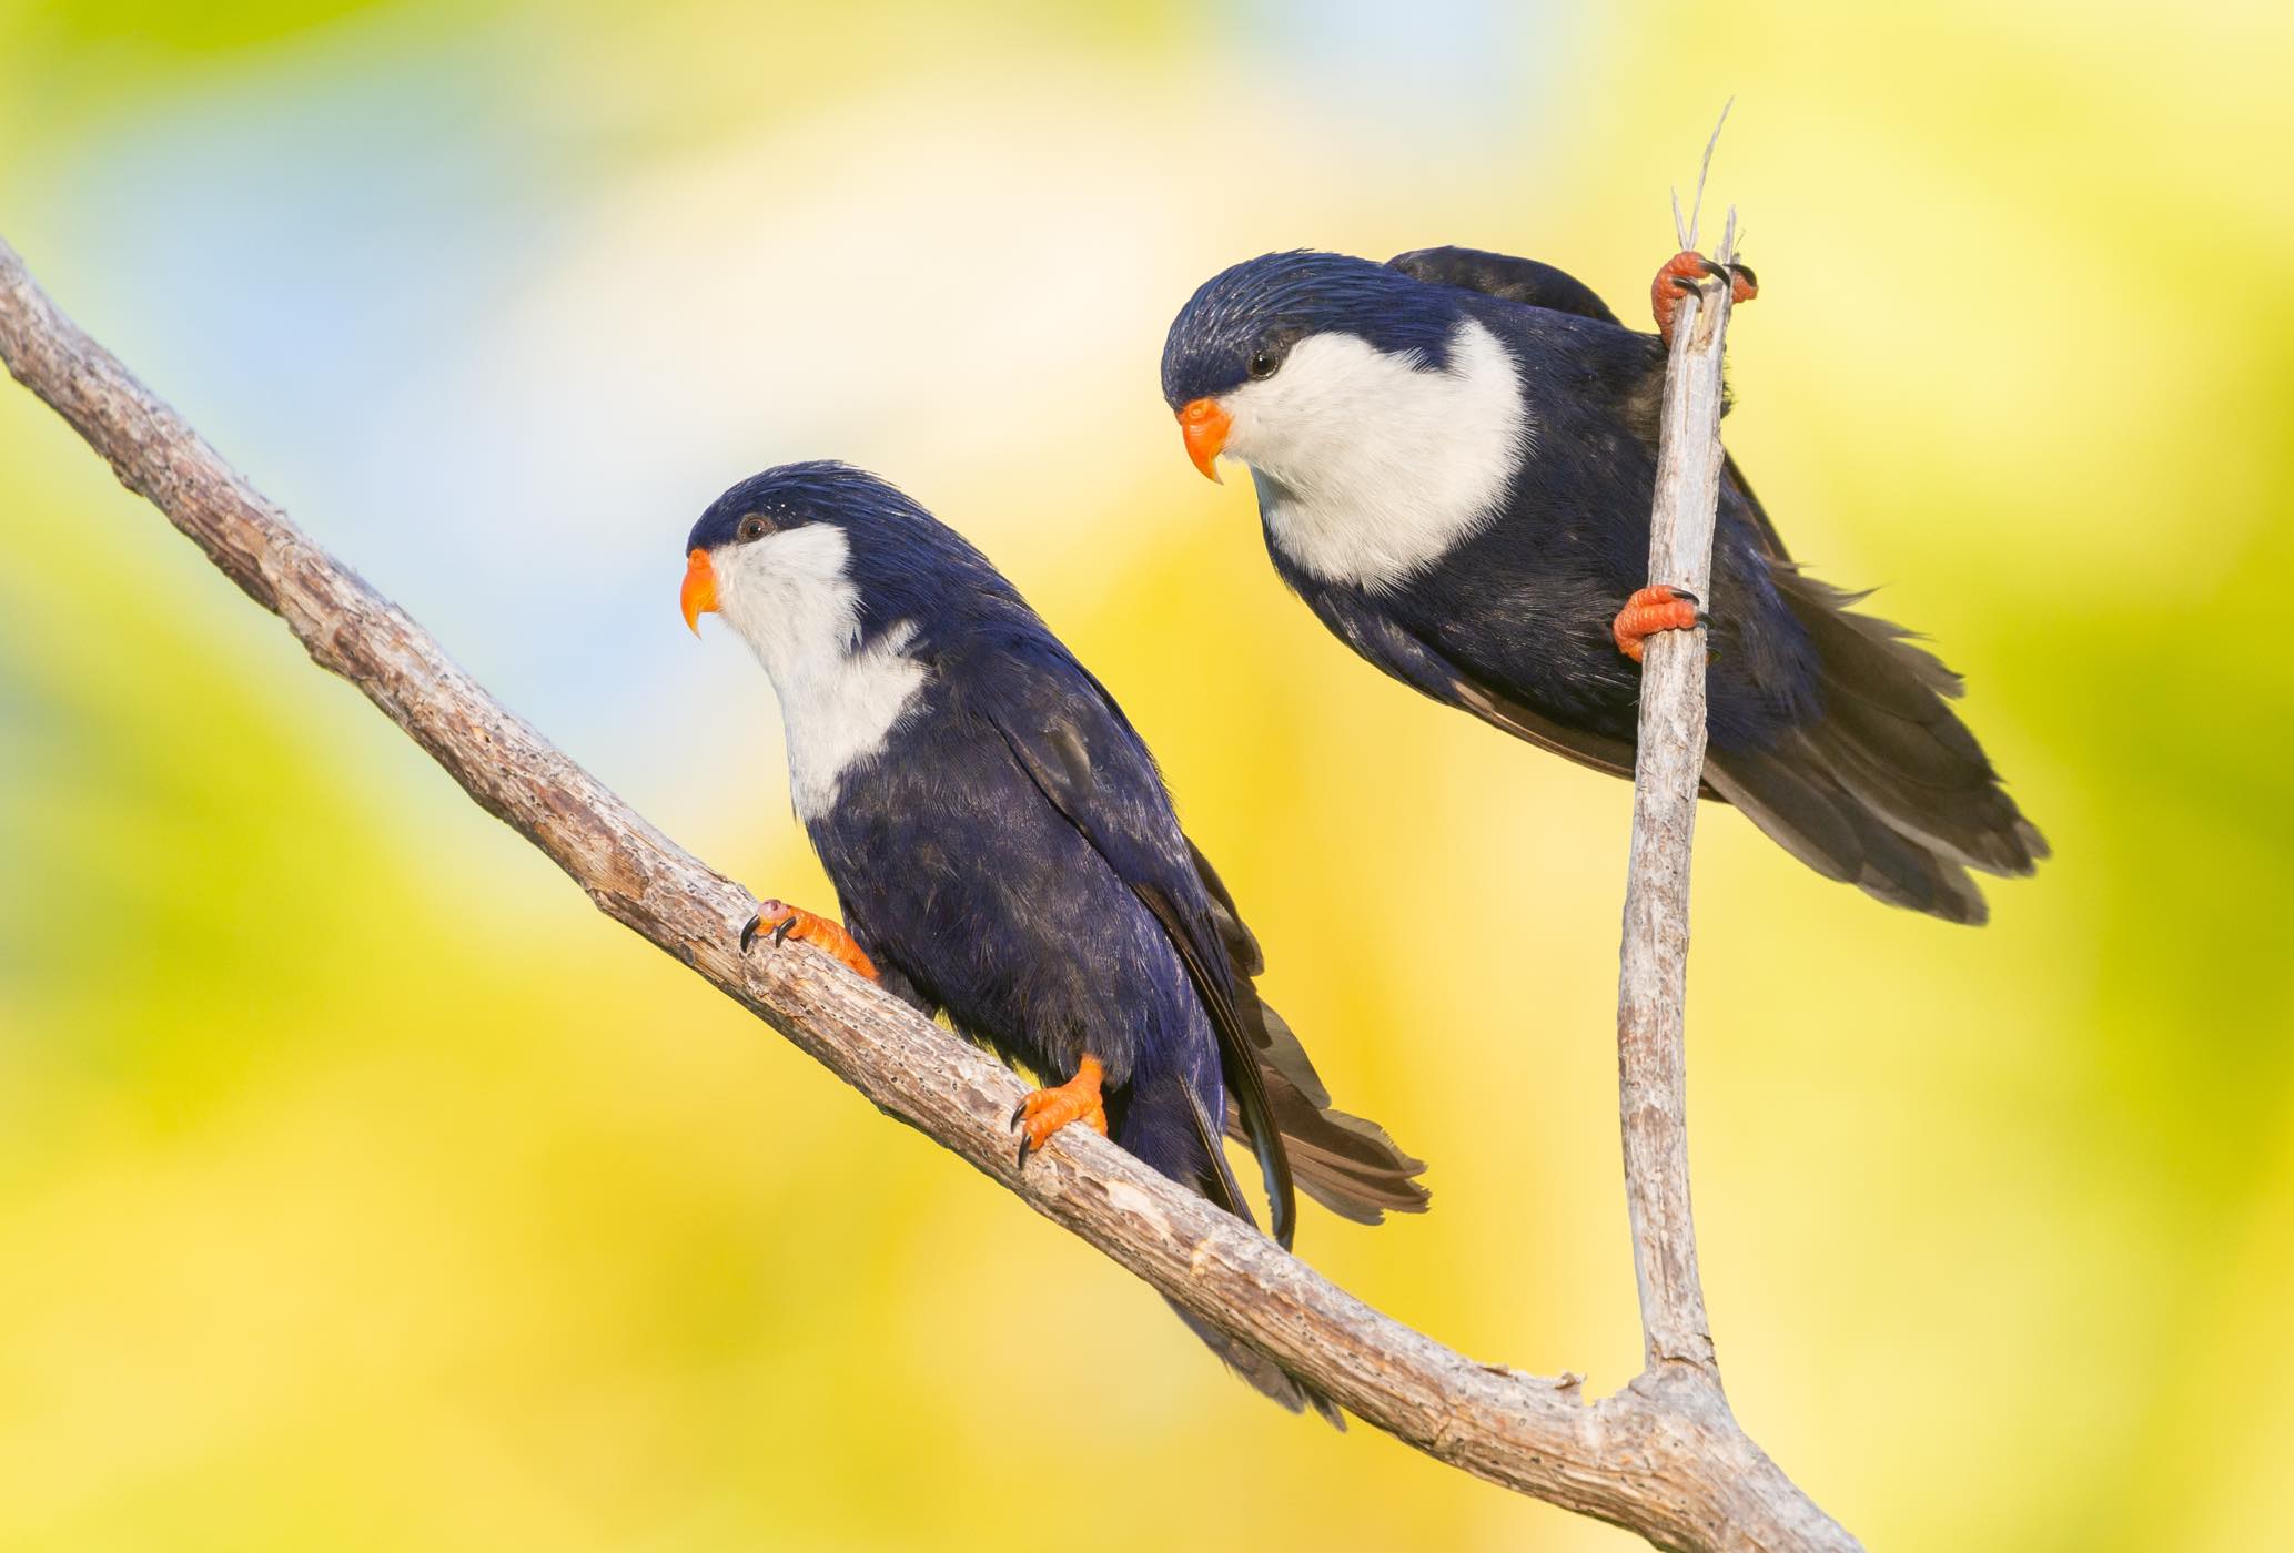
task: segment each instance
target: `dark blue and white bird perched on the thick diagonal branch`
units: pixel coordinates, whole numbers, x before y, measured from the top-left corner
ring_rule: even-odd
[[[1147,746],[963,537],[869,473],[789,463],[693,525],[681,603],[695,631],[723,615],[773,679],[796,817],[844,913],[840,929],[766,902],[750,931],[812,941],[1041,1076],[1014,1115],[1023,1161],[1083,1122],[1248,1223],[1232,1133],[1285,1246],[1294,1179],[1358,1223],[1425,1209],[1425,1165],[1331,1108],[1259,1000],[1257,941]],[[1275,1402],[1337,1422],[1188,1326]]]

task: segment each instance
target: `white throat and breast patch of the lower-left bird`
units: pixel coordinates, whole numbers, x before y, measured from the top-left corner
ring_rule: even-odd
[[[856,651],[860,590],[844,576],[849,553],[842,528],[805,523],[713,557],[718,612],[780,695],[789,798],[805,821],[828,812],[846,771],[883,752],[924,688],[924,665],[906,656],[913,624],[899,622]]]

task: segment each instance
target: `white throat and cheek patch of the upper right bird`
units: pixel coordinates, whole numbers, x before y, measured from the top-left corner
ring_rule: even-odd
[[[1450,367],[1358,335],[1308,335],[1220,404],[1227,452],[1262,475],[1266,532],[1303,571],[1402,587],[1498,512],[1535,429],[1514,358],[1480,321]]]

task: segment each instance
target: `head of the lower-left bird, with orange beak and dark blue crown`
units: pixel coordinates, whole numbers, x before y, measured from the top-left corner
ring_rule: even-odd
[[[980,610],[1025,610],[961,534],[849,463],[782,463],[732,486],[686,537],[686,624],[723,612],[775,677],[929,633]]]

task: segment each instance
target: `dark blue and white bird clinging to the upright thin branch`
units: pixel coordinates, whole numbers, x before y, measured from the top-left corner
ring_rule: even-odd
[[[1250,466],[1275,571],[1340,640],[1629,778],[1640,640],[1704,622],[1643,583],[1663,340],[1707,271],[1668,262],[1643,335],[1532,259],[1264,255],[1179,310],[1163,397],[1204,475]],[[1968,869],[2030,874],[2046,842],[1945,704],[1959,677],[1801,571],[1734,463],[1711,592],[1707,796],[1826,879],[1982,922]]]

